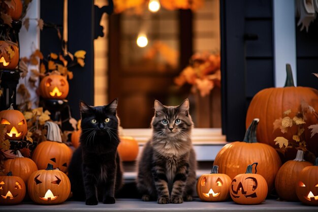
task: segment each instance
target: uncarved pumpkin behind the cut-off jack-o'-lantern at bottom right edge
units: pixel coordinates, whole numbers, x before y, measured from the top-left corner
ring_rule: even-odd
[[[304,160],[304,152],[298,150],[294,160],[285,162],[277,172],[275,189],[278,196],[287,201],[298,201],[296,182],[301,170],[312,163]]]

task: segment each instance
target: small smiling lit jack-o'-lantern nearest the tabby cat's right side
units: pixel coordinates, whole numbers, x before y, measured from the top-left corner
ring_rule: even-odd
[[[218,166],[213,165],[210,174],[203,174],[197,181],[197,194],[207,202],[225,201],[230,197],[231,178],[218,173]]]

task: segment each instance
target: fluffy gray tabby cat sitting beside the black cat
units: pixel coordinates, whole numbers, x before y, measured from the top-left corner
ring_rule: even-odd
[[[179,106],[164,106],[156,100],[154,109],[152,137],[138,161],[137,188],[143,201],[192,201],[197,162],[190,137],[189,100]]]

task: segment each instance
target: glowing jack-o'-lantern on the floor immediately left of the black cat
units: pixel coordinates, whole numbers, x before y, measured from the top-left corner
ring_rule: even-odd
[[[48,164],[45,170],[38,170],[30,175],[27,189],[31,200],[36,203],[60,204],[69,197],[71,183],[65,173]]]

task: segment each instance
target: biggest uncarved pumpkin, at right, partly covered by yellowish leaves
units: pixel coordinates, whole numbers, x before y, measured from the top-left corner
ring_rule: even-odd
[[[288,64],[287,80],[284,87],[263,89],[252,98],[246,114],[246,128],[253,118],[260,118],[260,124],[257,130],[258,140],[275,147],[274,139],[278,136],[282,136],[279,128],[274,131],[273,123],[275,119],[282,117],[283,112],[289,109],[293,112],[300,111],[302,100],[306,101],[318,111],[318,90],[311,87],[295,87],[291,66]],[[308,126],[316,124],[316,121],[317,119],[313,115],[308,114],[306,124],[304,125],[307,148],[310,149],[314,155],[318,155],[318,142],[316,142],[318,140],[318,134],[311,137]],[[294,141],[293,135],[297,133],[297,129],[292,131],[283,134],[290,142]],[[292,159],[290,157],[287,158],[287,160]]]

